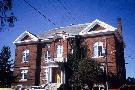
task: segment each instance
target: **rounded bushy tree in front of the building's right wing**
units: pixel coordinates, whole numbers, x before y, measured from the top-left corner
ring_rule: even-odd
[[[88,86],[92,90],[94,84],[104,83],[105,73],[100,67],[101,65],[94,59],[82,59],[72,77],[74,84],[82,88]]]

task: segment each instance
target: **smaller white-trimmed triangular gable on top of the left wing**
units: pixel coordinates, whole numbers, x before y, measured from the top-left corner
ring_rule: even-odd
[[[31,41],[38,41],[38,38],[35,35],[31,34],[30,32],[25,31],[13,43],[16,44]]]

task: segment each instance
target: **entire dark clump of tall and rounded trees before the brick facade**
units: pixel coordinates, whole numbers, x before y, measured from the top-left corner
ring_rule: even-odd
[[[104,82],[105,73],[98,62],[87,57],[87,45],[81,36],[69,38],[68,41],[72,52],[68,54],[67,62],[58,63],[62,70],[65,70],[65,86],[68,89],[80,90],[87,85],[91,90],[94,83]],[[65,90],[64,85],[60,89]]]

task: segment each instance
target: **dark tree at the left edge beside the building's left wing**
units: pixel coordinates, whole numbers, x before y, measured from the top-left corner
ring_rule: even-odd
[[[12,60],[8,46],[3,46],[0,52],[0,87],[10,87],[12,82]]]

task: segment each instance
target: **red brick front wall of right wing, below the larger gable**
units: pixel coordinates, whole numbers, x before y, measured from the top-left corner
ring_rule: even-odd
[[[103,42],[103,48],[107,48],[107,62],[108,63],[108,69],[112,73],[116,74],[116,58],[115,53],[112,53],[115,50],[115,39],[114,35],[105,35],[105,36],[92,36],[92,37],[86,37],[85,42],[88,46],[88,55],[90,58],[93,57],[93,44],[95,42]],[[94,58],[99,62],[105,62],[105,57],[99,57]]]

